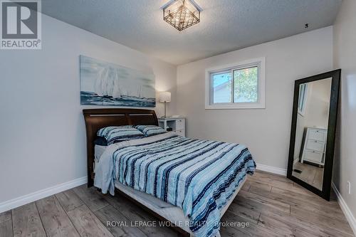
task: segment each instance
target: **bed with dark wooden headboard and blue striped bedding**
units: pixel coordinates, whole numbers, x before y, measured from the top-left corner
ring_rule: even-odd
[[[83,114],[88,187],[95,184],[104,194],[127,196],[160,220],[173,223],[184,236],[219,236],[217,222],[243,186],[246,174],[253,174],[256,167],[246,147],[172,132],[98,147],[94,140],[100,128],[158,125],[155,111],[95,109],[83,110]]]

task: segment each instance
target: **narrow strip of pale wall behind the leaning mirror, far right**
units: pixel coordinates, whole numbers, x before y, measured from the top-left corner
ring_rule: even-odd
[[[335,21],[334,65],[342,69],[333,181],[353,214],[356,234],[356,1],[344,0]],[[348,194],[347,181],[351,182]]]

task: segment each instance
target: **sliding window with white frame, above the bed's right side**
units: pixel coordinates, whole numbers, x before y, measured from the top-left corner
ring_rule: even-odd
[[[206,109],[265,107],[265,59],[206,70]]]

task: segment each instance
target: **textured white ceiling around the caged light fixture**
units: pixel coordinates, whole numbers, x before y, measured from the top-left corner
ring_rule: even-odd
[[[195,0],[201,22],[182,32],[162,20],[167,1],[42,0],[42,11],[179,65],[330,26],[342,0]]]

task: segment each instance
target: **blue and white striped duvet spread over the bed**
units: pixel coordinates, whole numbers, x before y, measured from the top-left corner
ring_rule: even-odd
[[[100,158],[103,164],[95,169],[95,186],[113,194],[117,179],[182,208],[194,236],[219,236],[220,210],[255,170],[250,152],[240,144],[155,137],[112,145],[111,160]]]

